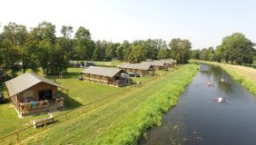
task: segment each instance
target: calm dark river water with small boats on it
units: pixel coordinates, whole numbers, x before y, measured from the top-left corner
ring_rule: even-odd
[[[255,96],[221,68],[200,65],[200,72],[182,93],[177,106],[140,144],[256,144]],[[212,86],[207,86],[207,82],[212,82]],[[225,102],[218,102],[218,97],[225,98]]]

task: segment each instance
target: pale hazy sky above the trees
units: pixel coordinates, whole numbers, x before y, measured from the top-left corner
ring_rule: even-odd
[[[193,49],[217,46],[233,33],[256,43],[256,0],[1,0],[1,31],[43,21],[89,29],[94,40],[189,39]]]

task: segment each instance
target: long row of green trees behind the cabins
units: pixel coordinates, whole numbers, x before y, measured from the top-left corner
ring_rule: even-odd
[[[74,35],[74,37],[73,37]],[[11,72],[42,68],[44,74],[65,72],[70,60],[120,61],[139,63],[146,59],[173,58],[187,63],[191,43],[180,38],[166,43],[162,39],[136,40],[133,43],[113,43],[92,40],[88,29],[62,26],[56,36],[55,25],[43,22],[27,30],[25,25],[9,23],[0,34],[0,68]]]

